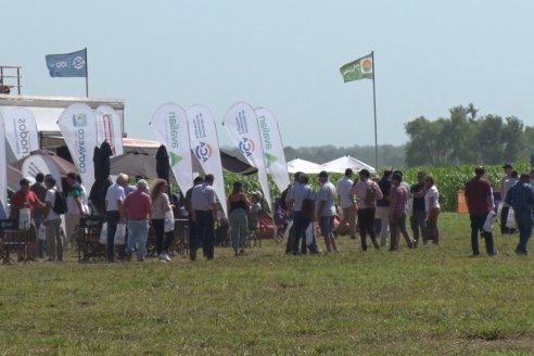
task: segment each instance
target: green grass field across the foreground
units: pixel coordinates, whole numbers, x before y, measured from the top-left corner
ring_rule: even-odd
[[[0,354],[534,354],[534,257],[497,234],[498,256],[469,258],[468,217],[440,227],[399,253],[343,237],[335,255],[2,266]]]

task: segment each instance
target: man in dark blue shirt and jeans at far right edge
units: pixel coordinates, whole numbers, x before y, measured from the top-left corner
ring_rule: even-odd
[[[526,246],[532,233],[532,212],[534,206],[534,191],[530,185],[530,175],[527,173],[521,174],[518,183],[510,188],[506,195],[506,203],[513,208],[519,229],[519,244],[516,247],[516,253],[518,255],[526,255]]]

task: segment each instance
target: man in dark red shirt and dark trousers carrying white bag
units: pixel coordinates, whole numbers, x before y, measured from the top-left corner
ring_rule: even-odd
[[[486,252],[490,256],[497,254],[494,246],[493,233],[483,229],[484,223],[488,214],[493,214],[492,209],[492,187],[486,178],[484,178],[484,167],[474,168],[474,178],[466,183],[466,203],[469,209],[471,219],[471,249],[472,256],[478,256],[479,251],[479,233],[482,231],[486,243]]]

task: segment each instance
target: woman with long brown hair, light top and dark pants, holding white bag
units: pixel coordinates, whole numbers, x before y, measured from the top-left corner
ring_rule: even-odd
[[[165,179],[157,179],[152,187],[150,198],[152,200],[152,228],[156,237],[156,253],[160,260],[170,262],[168,249],[175,239],[175,231],[165,232],[165,215],[173,212],[173,205],[167,195],[168,185]],[[128,196],[126,196],[128,199]],[[174,224],[174,215],[173,215]],[[165,240],[164,240],[165,237]]]

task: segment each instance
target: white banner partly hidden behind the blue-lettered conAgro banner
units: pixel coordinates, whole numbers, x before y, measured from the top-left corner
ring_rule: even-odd
[[[123,154],[123,128],[117,112],[110,105],[100,105],[94,111],[94,116],[97,116],[97,144],[100,147],[102,142],[107,141],[114,156]]]

